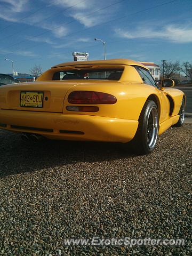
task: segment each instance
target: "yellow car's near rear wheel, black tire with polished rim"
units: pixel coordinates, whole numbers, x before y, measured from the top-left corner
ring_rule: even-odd
[[[154,151],[158,137],[158,109],[153,100],[147,100],[139,117],[139,125],[134,139],[131,141],[139,154],[149,154]]]

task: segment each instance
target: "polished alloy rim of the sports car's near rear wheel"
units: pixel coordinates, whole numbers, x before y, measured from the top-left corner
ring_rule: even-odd
[[[158,135],[158,112],[157,108],[153,107],[150,109],[150,113],[148,115],[147,120],[147,142],[148,147],[153,149]]]

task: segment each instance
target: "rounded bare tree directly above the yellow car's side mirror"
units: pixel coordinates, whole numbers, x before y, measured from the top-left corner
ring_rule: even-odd
[[[164,71],[164,76],[166,78],[170,78],[175,72],[180,71],[181,67],[179,64],[179,61],[164,61],[164,68],[163,68],[163,63],[159,65],[161,73],[163,74]]]

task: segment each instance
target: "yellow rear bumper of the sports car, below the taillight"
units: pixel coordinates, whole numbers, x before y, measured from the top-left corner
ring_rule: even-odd
[[[1,129],[49,139],[128,142],[137,127],[136,120],[0,109]]]

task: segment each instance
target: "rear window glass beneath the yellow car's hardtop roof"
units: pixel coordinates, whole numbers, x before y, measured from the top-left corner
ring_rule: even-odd
[[[123,69],[99,69],[99,70],[73,70],[57,71],[53,74],[53,80],[69,79],[106,79],[116,80],[121,78]]]

